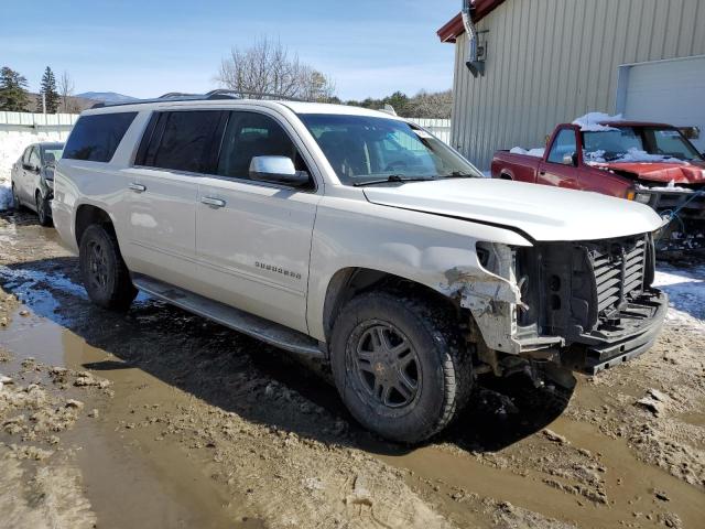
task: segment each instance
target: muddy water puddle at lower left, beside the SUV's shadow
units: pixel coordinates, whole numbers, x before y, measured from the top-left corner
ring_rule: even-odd
[[[169,414],[175,407],[189,406],[193,397],[39,315],[15,315],[2,342],[17,358],[89,369],[111,382],[110,397],[90,399],[96,417],[79,420],[62,439],[75,454],[99,527],[263,527],[240,509],[240,498],[215,486],[205,473],[208,458],[185,454],[134,429],[134,413],[142,402]]]

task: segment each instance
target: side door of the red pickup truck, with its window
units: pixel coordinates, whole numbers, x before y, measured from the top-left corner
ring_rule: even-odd
[[[539,164],[536,183],[572,190],[581,188],[578,155],[576,130],[572,127],[558,129],[545,161]]]

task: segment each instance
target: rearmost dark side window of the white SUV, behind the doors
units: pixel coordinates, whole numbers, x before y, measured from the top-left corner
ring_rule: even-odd
[[[63,158],[109,162],[137,112],[83,116],[70,132]]]

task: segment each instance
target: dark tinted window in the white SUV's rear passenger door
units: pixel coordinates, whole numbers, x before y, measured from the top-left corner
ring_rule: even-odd
[[[192,110],[160,112],[138,152],[138,165],[203,173],[217,152],[215,139],[224,112]]]

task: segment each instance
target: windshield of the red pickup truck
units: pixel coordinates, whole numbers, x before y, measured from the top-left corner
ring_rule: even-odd
[[[583,132],[586,162],[658,162],[703,160],[679,130],[659,127],[619,127]]]

